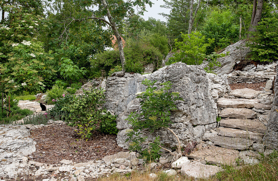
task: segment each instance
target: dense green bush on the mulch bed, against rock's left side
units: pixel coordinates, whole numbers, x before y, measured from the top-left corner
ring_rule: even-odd
[[[104,94],[101,89],[83,90],[84,95],[64,95],[56,99],[50,115],[61,115],[69,126],[86,124],[93,130],[116,134],[116,116],[103,108]],[[86,126],[86,127],[88,127]],[[87,135],[90,137],[91,133]]]

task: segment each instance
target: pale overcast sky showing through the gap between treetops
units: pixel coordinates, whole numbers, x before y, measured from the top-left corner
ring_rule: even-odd
[[[164,4],[163,0],[152,0],[152,3],[154,3],[152,5],[152,7],[150,7],[149,5],[146,5],[146,10],[148,12],[145,12],[144,16],[142,16],[142,17],[145,20],[148,20],[149,17],[153,17],[155,19],[160,19],[160,21],[166,22],[167,20],[163,16],[158,15],[158,13],[164,12],[164,13],[168,14],[170,12],[170,9],[165,9],[165,8],[160,7],[160,5]],[[8,15],[8,13],[5,13],[5,17],[7,17],[7,15]]]

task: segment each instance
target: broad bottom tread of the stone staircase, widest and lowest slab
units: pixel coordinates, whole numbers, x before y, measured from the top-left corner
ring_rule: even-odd
[[[233,149],[222,148],[219,146],[205,146],[197,151],[193,151],[188,158],[196,159],[199,162],[207,162],[214,165],[236,165],[236,160],[239,158],[239,151]]]

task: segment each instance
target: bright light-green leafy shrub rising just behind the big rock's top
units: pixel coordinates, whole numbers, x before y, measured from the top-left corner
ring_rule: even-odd
[[[214,39],[208,39],[209,42],[205,43],[205,36],[200,32],[192,32],[189,35],[182,33],[181,36],[183,41],[178,42],[178,39],[175,40],[176,53],[169,58],[167,64],[183,62],[187,65],[200,65],[206,57],[206,48],[214,42]]]

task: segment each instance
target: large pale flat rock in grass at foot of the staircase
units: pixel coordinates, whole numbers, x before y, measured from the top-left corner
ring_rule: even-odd
[[[201,162],[191,162],[182,166],[180,174],[187,175],[188,177],[194,177],[194,179],[199,178],[209,178],[214,176],[217,172],[220,172],[222,169],[215,165],[205,165]]]

